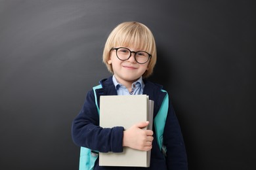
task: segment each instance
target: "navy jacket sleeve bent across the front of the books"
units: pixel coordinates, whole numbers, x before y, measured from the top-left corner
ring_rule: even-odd
[[[123,152],[123,127],[102,128],[93,90],[72,123],[72,139],[77,146],[98,152]]]

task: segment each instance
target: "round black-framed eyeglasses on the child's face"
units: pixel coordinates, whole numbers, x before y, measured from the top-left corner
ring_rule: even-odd
[[[148,62],[148,60],[151,58],[151,54],[148,54],[147,52],[144,52],[144,51],[132,52],[131,50],[125,47],[111,48],[111,50],[116,50],[116,56],[121,61],[125,61],[129,59],[132,53],[135,54],[135,61],[137,61],[137,63],[140,63],[140,64],[144,64]]]

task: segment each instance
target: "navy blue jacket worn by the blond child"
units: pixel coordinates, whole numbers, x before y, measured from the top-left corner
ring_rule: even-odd
[[[98,106],[100,107],[100,95],[117,95],[112,76],[100,81],[102,88],[96,90]],[[154,101],[154,116],[161,107],[166,93],[161,92],[162,86],[144,80],[143,94]],[[75,144],[99,152],[123,152],[123,127],[102,128],[99,126],[99,116],[95,105],[93,90],[87,93],[83,108],[75,117],[72,124],[72,138]],[[154,129],[153,129],[154,131]],[[156,139],[156,136],[154,136]],[[153,140],[150,167],[102,167],[95,163],[95,169],[173,169],[185,170],[187,167],[186,150],[183,142],[179,122],[169,102],[169,110],[165,129],[163,132],[163,144],[167,146],[167,156],[163,156],[157,141]]]

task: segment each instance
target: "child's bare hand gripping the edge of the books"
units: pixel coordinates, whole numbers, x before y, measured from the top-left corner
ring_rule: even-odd
[[[123,131],[123,146],[143,151],[151,150],[153,131],[142,129],[148,124],[149,122],[140,122]]]

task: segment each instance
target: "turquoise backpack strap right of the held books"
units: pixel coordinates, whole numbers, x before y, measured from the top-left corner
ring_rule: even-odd
[[[161,90],[161,92],[165,92],[166,95],[163,98],[163,102],[161,104],[160,110],[158,111],[158,114],[154,118],[154,126],[156,129],[156,140],[158,141],[158,146],[166,156],[167,149],[166,146],[163,145],[163,130],[165,128],[165,121],[169,108],[169,96],[165,90]]]

